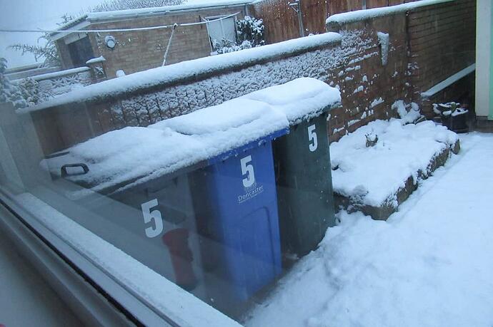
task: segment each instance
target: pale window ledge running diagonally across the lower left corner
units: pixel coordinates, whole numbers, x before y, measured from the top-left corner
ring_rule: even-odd
[[[14,201],[22,203],[36,231],[51,234],[46,239],[57,250],[144,325],[239,326],[34,195],[19,194]]]

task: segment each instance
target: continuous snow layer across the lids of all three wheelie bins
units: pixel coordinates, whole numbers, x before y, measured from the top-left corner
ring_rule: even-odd
[[[89,172],[72,180],[91,185],[89,192],[107,192],[117,185],[124,190],[286,133],[294,121],[311,118],[341,100],[339,90],[314,78],[298,78],[262,91],[146,128],[105,133],[42,165],[60,175],[62,165],[86,163]]]

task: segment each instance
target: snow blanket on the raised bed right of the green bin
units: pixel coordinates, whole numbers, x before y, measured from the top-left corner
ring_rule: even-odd
[[[401,119],[375,120],[330,145],[334,192],[361,204],[397,207],[406,180],[427,177],[433,158],[454,147],[457,134],[431,120],[409,124],[419,111],[402,110]],[[367,147],[367,138],[376,144]]]

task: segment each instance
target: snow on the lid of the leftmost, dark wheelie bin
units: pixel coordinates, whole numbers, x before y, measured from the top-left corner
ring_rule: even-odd
[[[179,146],[178,146],[179,145]],[[53,175],[61,175],[61,166],[84,163],[89,172],[69,176],[93,191],[116,185],[143,182],[194,165],[207,157],[204,144],[169,128],[126,127],[70,147],[65,155],[41,162]]]

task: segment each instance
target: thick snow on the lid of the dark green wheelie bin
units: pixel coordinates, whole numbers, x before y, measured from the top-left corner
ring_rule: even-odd
[[[316,78],[297,78],[293,81],[264,88],[241,98],[258,100],[272,105],[286,115],[291,125],[316,117],[328,105],[341,101],[341,93]]]

